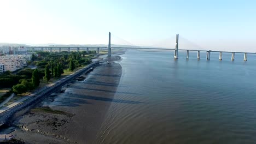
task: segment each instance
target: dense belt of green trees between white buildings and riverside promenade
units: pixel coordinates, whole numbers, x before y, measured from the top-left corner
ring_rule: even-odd
[[[96,53],[96,51],[89,51]],[[75,68],[89,64],[94,55],[88,55],[86,51],[49,53],[38,52],[32,55],[32,63],[37,69],[24,69],[18,71],[16,75],[5,73],[0,75],[0,88],[12,87],[16,94],[22,94],[35,89],[40,84],[40,79],[49,81],[51,77],[60,77],[63,69],[73,71]]]

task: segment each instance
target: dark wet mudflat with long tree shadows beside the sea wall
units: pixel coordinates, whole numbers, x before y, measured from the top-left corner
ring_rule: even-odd
[[[111,64],[107,64],[107,61]],[[119,56],[104,59],[84,81],[69,83],[65,92],[46,98],[21,116],[12,134],[27,143],[94,143],[122,74]],[[42,108],[43,107],[43,108]]]

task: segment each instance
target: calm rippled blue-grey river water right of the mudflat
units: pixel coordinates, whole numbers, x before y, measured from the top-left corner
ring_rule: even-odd
[[[256,55],[127,51],[96,143],[255,143]]]

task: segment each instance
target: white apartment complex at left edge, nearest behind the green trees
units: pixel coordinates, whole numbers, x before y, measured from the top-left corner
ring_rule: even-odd
[[[5,71],[15,71],[27,66],[31,55],[6,55],[0,57],[0,63],[4,64]]]

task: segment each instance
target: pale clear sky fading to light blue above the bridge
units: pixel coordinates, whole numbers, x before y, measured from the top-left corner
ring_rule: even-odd
[[[256,1],[0,1],[0,42],[107,44],[256,52]],[[189,44],[184,39],[191,41]],[[183,41],[182,41],[183,40]],[[170,41],[170,43],[169,43]]]

